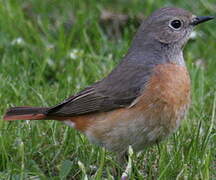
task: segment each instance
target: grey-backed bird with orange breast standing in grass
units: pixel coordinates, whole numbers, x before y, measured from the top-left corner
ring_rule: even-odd
[[[191,104],[183,48],[194,27],[213,18],[160,8],[107,77],[51,107],[11,107],[3,119],[61,121],[119,155],[158,143],[178,129]]]

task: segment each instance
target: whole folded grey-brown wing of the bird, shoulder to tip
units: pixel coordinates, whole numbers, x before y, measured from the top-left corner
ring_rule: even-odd
[[[50,116],[77,116],[129,106],[146,84],[148,71],[117,68],[107,78],[51,107]],[[118,72],[120,71],[120,72]]]

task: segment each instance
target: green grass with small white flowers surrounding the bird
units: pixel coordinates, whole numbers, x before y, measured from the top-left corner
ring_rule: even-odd
[[[106,76],[128,49],[136,16],[167,5],[216,15],[214,0],[0,0],[0,114],[13,105],[56,104]],[[109,33],[103,9],[130,21]],[[196,31],[184,50],[193,85],[188,116],[159,146],[131,153],[130,179],[216,179],[216,23]],[[125,170],[60,122],[0,121],[0,179],[113,179],[113,169],[118,177]]]

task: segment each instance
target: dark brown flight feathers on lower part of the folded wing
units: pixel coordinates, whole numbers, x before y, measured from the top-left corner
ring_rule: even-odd
[[[76,116],[92,112],[110,111],[127,106],[134,98],[115,99],[96,92],[94,87],[90,87],[52,107],[47,113],[55,116]]]

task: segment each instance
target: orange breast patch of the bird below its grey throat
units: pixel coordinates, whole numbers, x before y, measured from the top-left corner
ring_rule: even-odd
[[[155,116],[150,119],[158,119],[157,123],[167,128],[176,128],[190,104],[190,77],[186,67],[158,65],[137,101],[135,108],[146,111],[146,116]]]

